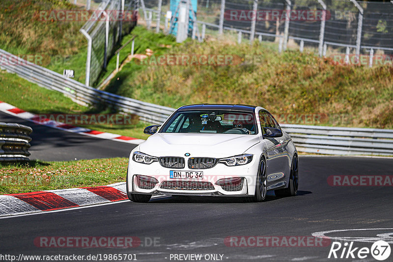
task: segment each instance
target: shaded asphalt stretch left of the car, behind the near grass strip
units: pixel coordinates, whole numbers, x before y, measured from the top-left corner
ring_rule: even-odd
[[[0,122],[18,123],[33,129],[30,159],[63,161],[106,157],[128,157],[136,145],[76,134],[36,125],[0,112]]]

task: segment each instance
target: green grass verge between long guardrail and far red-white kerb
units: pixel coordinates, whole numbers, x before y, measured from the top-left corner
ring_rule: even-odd
[[[111,108],[94,108],[78,105],[61,93],[45,89],[5,71],[0,71],[0,82],[0,101],[31,113],[109,114],[116,112]],[[148,135],[143,133],[143,129],[149,124],[138,120],[132,123],[132,125],[82,125],[82,127],[146,139]]]

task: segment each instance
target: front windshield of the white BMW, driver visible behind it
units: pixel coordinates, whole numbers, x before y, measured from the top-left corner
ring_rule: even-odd
[[[175,113],[159,132],[256,134],[258,129],[252,112],[190,110]]]

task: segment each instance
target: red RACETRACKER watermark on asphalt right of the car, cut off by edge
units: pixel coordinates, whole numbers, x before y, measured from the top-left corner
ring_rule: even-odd
[[[333,175],[328,177],[331,186],[393,186],[393,176]]]

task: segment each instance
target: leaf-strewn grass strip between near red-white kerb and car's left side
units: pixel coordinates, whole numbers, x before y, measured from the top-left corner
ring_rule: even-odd
[[[0,164],[0,194],[124,182],[127,158]]]

